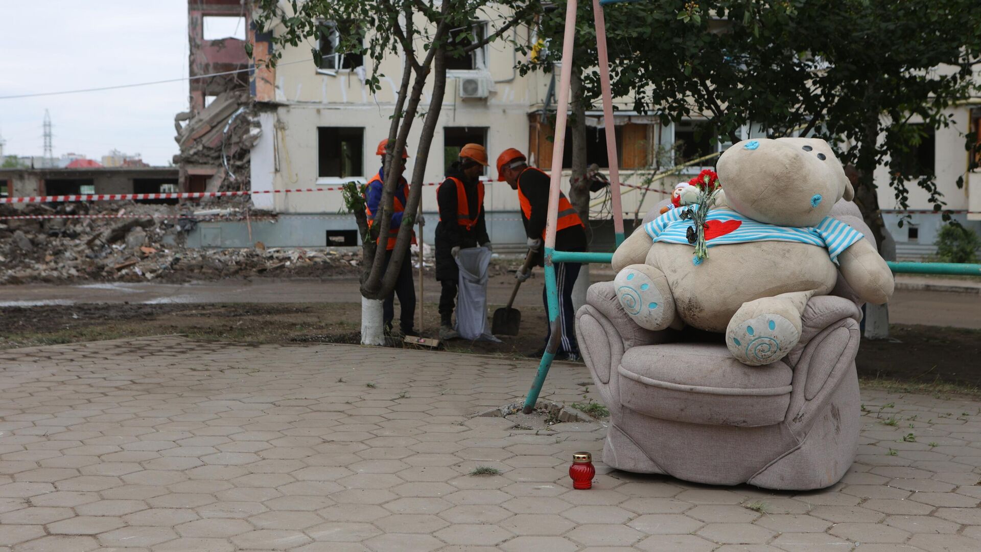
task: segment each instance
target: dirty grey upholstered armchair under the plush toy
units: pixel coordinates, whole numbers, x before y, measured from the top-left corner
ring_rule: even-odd
[[[853,203],[840,201],[831,216],[871,236]],[[645,330],[623,311],[612,282],[591,286],[576,332],[610,411],[603,463],[772,489],[837,482],[861,427],[861,310],[844,279],[833,293],[809,301],[790,354],[748,366],[732,358],[722,334]]]

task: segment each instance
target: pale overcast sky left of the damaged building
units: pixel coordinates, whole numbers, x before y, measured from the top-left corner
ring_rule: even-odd
[[[186,0],[3,2],[0,96],[187,77]],[[166,165],[187,82],[0,99],[7,155],[41,155],[44,109],[54,155],[98,160],[116,148]]]

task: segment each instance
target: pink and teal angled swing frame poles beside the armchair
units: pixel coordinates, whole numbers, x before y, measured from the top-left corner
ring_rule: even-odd
[[[562,338],[562,326],[559,323],[558,312],[558,289],[555,282],[555,262],[565,260],[578,260],[577,253],[568,253],[555,250],[555,225],[558,218],[558,196],[562,184],[562,153],[565,150],[565,127],[569,115],[569,88],[572,80],[572,48],[576,39],[576,12],[578,5],[576,0],[569,0],[566,4],[565,12],[565,34],[562,42],[562,76],[559,81],[558,105],[555,113],[555,132],[554,143],[552,145],[552,166],[551,181],[548,189],[548,218],[545,224],[545,243],[544,243],[544,264],[545,264],[545,298],[548,306],[548,326],[550,329],[548,344],[542,360],[539,362],[539,371],[535,376],[528,396],[525,398],[523,412],[531,414],[535,410],[535,405],[539,401],[542,393],[542,385],[548,376],[548,368],[551,367],[552,359],[558,351],[558,344]],[[609,60],[606,54],[606,28],[603,20],[603,10],[599,0],[593,0],[594,26],[596,30],[596,51],[599,61],[599,85],[602,91],[603,102],[603,124],[606,132],[606,154],[609,158],[610,171],[610,191],[613,207],[613,229],[616,236],[616,245],[619,246],[624,239],[623,231],[623,208],[620,203],[620,171],[617,166],[616,151],[616,127],[613,124],[613,98],[610,91],[609,79]],[[565,255],[573,255],[568,257]],[[591,256],[591,253],[578,253],[583,255],[582,259],[586,262],[595,262],[607,255],[599,253]],[[589,259],[589,260],[587,260]],[[581,261],[582,262],[582,261]],[[608,261],[607,261],[608,262]]]

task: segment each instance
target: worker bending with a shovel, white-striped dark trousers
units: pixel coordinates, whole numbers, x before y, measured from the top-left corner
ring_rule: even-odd
[[[525,223],[525,234],[528,236],[528,248],[538,256],[538,265],[544,266],[542,246],[545,239],[545,221],[548,216],[548,189],[551,179],[534,167],[528,166],[525,155],[511,147],[505,149],[497,157],[497,180],[506,181],[511,190],[518,192],[521,203],[521,220]],[[560,251],[585,251],[586,227],[579,218],[579,213],[565,197],[559,193],[558,220],[555,225],[555,249]],[[572,307],[572,288],[579,277],[578,262],[556,262],[555,283],[558,287],[558,317],[562,328],[562,339],[559,341],[556,359],[579,359],[579,344],[576,342],[575,312]],[[531,271],[529,270],[529,273]],[[515,277],[525,281],[529,273],[517,272]],[[542,289],[542,300],[545,310],[548,308],[547,292]],[[551,326],[545,334],[545,344],[551,337]],[[544,348],[534,353],[541,357]]]

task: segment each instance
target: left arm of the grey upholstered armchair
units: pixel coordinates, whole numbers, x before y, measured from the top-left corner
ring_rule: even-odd
[[[576,313],[576,337],[599,395],[611,409],[620,404],[615,376],[623,354],[632,347],[672,341],[668,330],[652,332],[638,326],[617,301],[613,282],[590,286],[586,304]]]

